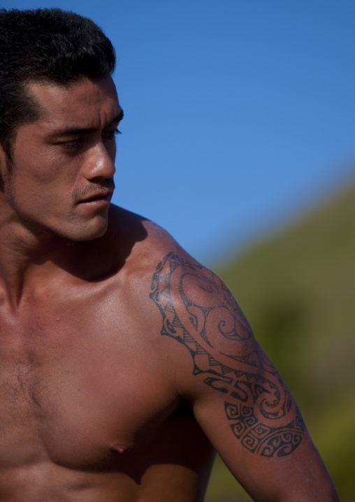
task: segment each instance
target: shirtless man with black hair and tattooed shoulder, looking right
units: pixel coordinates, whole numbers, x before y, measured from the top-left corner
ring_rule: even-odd
[[[214,448],[255,501],[338,501],[226,286],[110,207],[110,41],[2,10],[0,44],[0,501],[203,501]]]

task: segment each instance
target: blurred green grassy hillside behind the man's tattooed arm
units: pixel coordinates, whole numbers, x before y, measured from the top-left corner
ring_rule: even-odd
[[[355,184],[215,270],[296,397],[340,499],[354,502]],[[217,460],[206,501],[250,500],[224,469]]]

